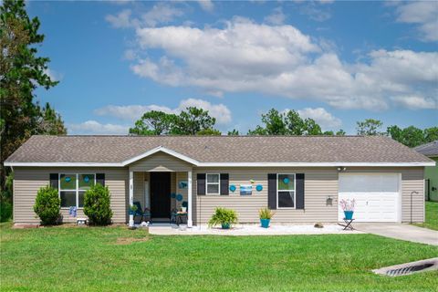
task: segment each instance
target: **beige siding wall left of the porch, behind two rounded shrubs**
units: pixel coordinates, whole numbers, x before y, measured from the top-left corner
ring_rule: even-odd
[[[39,218],[34,213],[36,193],[39,188],[49,184],[50,173],[105,173],[105,185],[110,189],[112,220],[114,223],[126,222],[126,198],[128,197],[127,168],[24,168],[15,167],[14,173],[14,222],[16,224],[38,224]],[[61,209],[63,222],[75,222],[76,218],[68,215],[68,209]],[[78,217],[83,217],[82,209]]]

